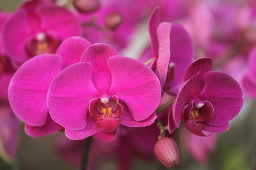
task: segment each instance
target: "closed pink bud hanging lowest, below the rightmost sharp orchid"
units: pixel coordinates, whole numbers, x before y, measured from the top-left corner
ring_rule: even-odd
[[[172,138],[159,139],[154,146],[154,152],[159,162],[166,167],[172,167],[180,163],[179,147]]]

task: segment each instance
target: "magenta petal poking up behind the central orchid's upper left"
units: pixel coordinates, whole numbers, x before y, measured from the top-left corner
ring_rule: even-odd
[[[65,39],[59,46],[56,54],[63,60],[63,69],[71,64],[79,62],[84,50],[90,46],[90,42],[81,37]]]

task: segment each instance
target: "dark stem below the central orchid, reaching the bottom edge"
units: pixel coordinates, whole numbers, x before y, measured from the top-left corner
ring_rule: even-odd
[[[83,152],[82,152],[82,155],[81,155],[81,170],[87,169],[87,166],[88,166],[88,155],[89,155],[91,144],[92,144],[92,136],[87,138],[84,141]]]

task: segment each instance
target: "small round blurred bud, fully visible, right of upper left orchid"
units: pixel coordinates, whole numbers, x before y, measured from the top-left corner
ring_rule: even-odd
[[[108,13],[105,17],[105,26],[109,29],[116,29],[122,22],[123,17],[118,12]]]

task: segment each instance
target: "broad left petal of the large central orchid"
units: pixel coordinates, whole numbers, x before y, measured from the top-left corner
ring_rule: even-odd
[[[92,64],[79,62],[66,67],[49,88],[47,104],[52,120],[73,131],[84,129],[93,97],[100,94],[92,83]]]

